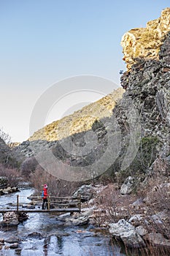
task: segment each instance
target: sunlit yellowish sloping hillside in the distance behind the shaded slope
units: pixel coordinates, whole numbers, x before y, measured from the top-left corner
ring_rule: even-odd
[[[112,116],[112,110],[122,98],[123,93],[124,90],[119,88],[97,102],[93,102],[81,110],[75,111],[72,115],[42,127],[42,129],[34,132],[34,135],[28,140],[61,140],[78,132],[88,131],[91,129],[94,121]]]

